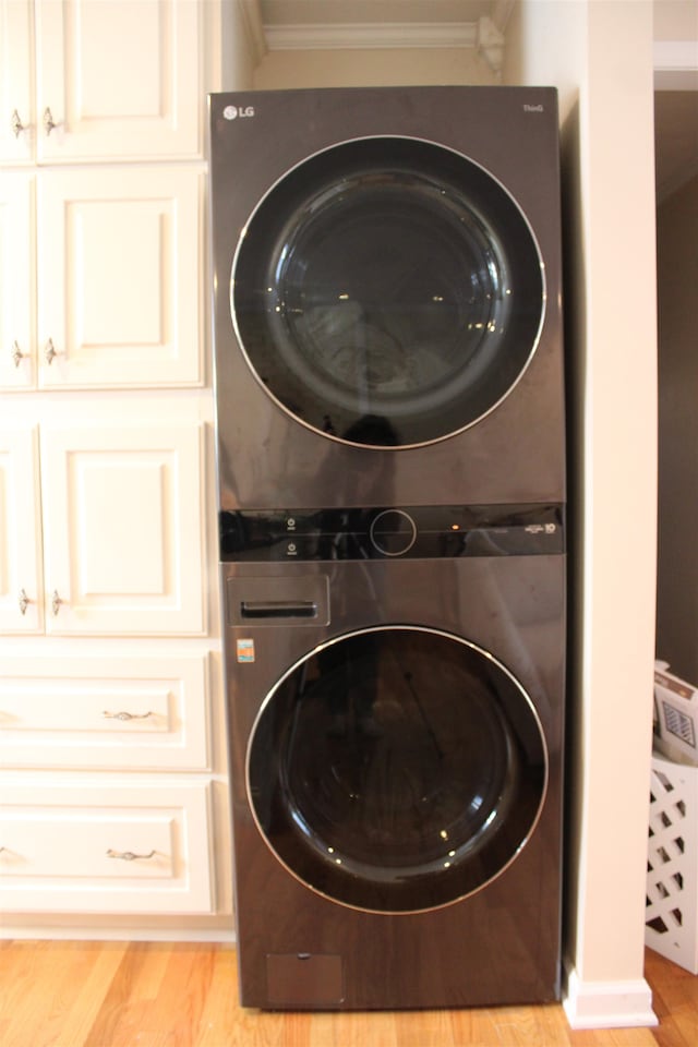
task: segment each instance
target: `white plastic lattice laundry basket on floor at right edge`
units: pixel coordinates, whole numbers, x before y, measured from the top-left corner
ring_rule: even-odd
[[[652,757],[645,941],[698,974],[698,768]]]

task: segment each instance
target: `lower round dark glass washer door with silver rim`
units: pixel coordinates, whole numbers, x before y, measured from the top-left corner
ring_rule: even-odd
[[[371,912],[446,905],[498,876],[546,780],[540,721],[510,673],[408,626],[352,633],[298,662],[248,753],[253,814],[279,861]]]

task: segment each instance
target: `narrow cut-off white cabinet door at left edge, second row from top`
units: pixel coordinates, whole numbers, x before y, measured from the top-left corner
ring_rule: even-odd
[[[35,381],[34,179],[0,174],[0,389]]]

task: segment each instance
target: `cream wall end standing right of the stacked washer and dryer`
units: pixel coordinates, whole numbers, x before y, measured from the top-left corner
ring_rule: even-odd
[[[576,633],[567,961],[580,1000],[602,983],[636,983],[641,1011],[657,498],[652,5],[522,0],[505,79],[556,85],[563,115]]]

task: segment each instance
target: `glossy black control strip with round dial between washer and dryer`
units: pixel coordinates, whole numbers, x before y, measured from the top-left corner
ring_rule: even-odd
[[[222,561],[434,559],[565,552],[564,507],[446,505],[221,512]]]

